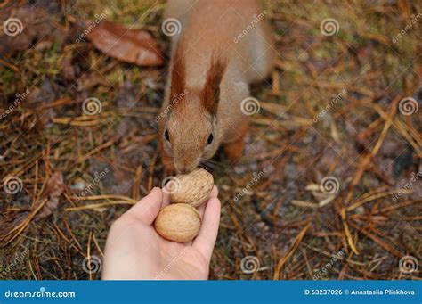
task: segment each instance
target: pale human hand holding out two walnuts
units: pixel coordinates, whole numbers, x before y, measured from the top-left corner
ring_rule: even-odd
[[[127,210],[110,228],[104,254],[105,280],[206,280],[220,223],[221,204],[214,186],[199,206],[202,226],[192,242],[167,241],[152,223],[169,204],[169,195],[156,187]]]

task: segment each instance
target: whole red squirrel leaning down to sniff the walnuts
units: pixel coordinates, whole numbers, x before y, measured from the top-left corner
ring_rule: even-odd
[[[164,19],[177,32],[159,121],[165,168],[191,172],[220,144],[229,159],[241,156],[248,128],[241,103],[274,60],[264,14],[255,0],[167,2]]]

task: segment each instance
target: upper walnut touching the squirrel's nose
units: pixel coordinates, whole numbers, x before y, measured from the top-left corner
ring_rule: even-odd
[[[170,193],[172,203],[185,203],[199,207],[207,201],[213,190],[214,178],[203,168],[196,168],[191,173],[174,177],[174,191]]]

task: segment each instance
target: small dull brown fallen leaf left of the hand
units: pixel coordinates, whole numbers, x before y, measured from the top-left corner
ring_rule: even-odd
[[[64,190],[63,175],[61,172],[55,172],[48,179],[47,185],[45,185],[45,193],[43,193],[41,200],[47,198],[48,201],[44,207],[37,213],[37,219],[46,218],[53,213],[54,210],[59,206],[59,198]],[[34,206],[33,208],[37,208]]]

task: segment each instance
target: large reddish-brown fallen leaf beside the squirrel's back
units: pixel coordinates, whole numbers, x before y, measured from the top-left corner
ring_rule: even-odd
[[[126,29],[103,21],[86,36],[102,53],[143,66],[163,64],[163,56],[155,39],[144,29]]]

